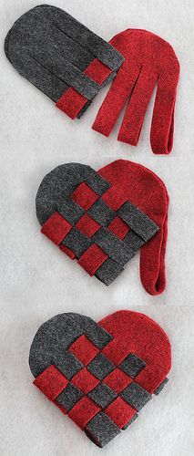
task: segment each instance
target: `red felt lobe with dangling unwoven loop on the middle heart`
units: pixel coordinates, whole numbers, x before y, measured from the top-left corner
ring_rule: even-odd
[[[98,171],[112,188],[103,195],[110,205],[121,195],[158,224],[159,231],[141,247],[140,277],[150,295],[163,293],[166,287],[165,251],[168,235],[168,192],[154,172],[132,161],[117,160]],[[119,191],[118,191],[119,189]],[[108,196],[110,195],[110,197]]]

